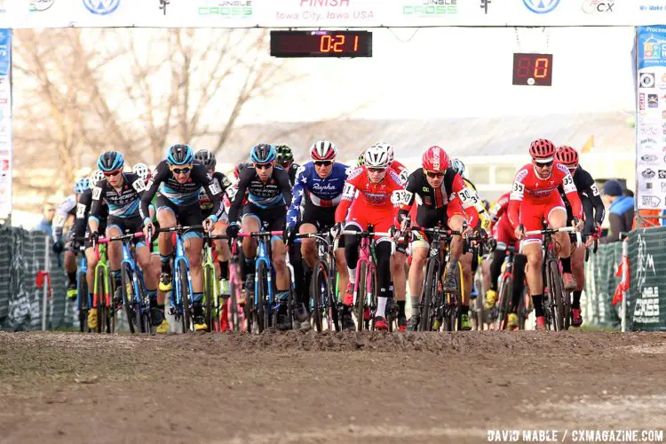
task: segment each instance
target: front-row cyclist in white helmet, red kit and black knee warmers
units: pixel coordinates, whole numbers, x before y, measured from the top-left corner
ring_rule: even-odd
[[[404,190],[398,174],[389,168],[389,153],[382,145],[373,145],[365,151],[364,165],[353,170],[345,182],[342,200],[336,210],[336,223],[345,223],[345,230],[364,231],[369,225],[376,232],[388,232],[395,220],[398,194]],[[349,214],[347,214],[349,210]],[[377,313],[375,329],[388,329],[385,308],[391,279],[391,239],[377,241]],[[360,240],[355,235],[345,236],[345,258],[349,283],[343,301],[343,325],[351,325],[353,286],[356,282],[356,263]],[[347,319],[345,319],[347,318]],[[359,320],[361,322],[361,320]]]

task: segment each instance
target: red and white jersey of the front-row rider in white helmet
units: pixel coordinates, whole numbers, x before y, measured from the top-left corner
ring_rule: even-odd
[[[358,202],[361,205],[368,206],[370,210],[396,209],[402,200],[400,192],[405,187],[400,183],[398,174],[392,170],[386,170],[386,175],[381,182],[373,184],[368,177],[368,171],[365,166],[353,170],[345,182],[345,189],[342,192],[342,200],[336,210],[336,222],[345,220],[347,210],[352,202]]]

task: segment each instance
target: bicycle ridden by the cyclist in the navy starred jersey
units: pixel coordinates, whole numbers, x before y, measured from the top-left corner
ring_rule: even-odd
[[[340,331],[340,307],[337,304],[337,268],[335,251],[337,239],[330,232],[297,234],[297,239],[314,239],[317,244],[317,263],[313,266],[310,282],[310,313],[313,315],[313,327],[323,330],[324,321],[330,331]]]

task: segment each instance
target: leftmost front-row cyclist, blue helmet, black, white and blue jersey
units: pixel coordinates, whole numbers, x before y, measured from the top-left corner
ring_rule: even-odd
[[[108,206],[107,230],[108,237],[120,236],[125,233],[136,233],[141,229],[141,217],[139,216],[139,202],[141,195],[146,189],[146,183],[134,173],[123,173],[123,155],[117,151],[107,151],[99,156],[97,161],[99,170],[104,174],[92,189],[92,205],[88,226],[90,226],[91,237],[99,235],[99,215],[102,203]],[[150,299],[151,316],[153,324],[160,325],[162,316],[157,310],[157,281],[150,269],[150,250],[146,241],[139,239],[135,242],[137,264],[144,272],[147,296]],[[120,299],[121,293],[121,254],[122,246],[117,242],[108,244],[108,262],[115,281],[115,299]],[[91,318],[97,321],[97,309],[91,307],[89,314],[89,325]],[[96,322],[95,322],[96,323]]]

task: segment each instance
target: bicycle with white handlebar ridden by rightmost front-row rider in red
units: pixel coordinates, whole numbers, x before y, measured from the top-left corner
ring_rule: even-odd
[[[543,235],[543,314],[547,329],[561,331],[565,329],[566,320],[571,312],[570,294],[564,290],[564,282],[559,268],[559,258],[555,253],[553,234],[574,233],[576,242],[580,244],[581,233],[576,231],[574,226],[564,226],[562,228],[543,228],[543,230],[533,230],[524,232],[524,227],[520,225],[520,231],[524,236],[541,234]]]

